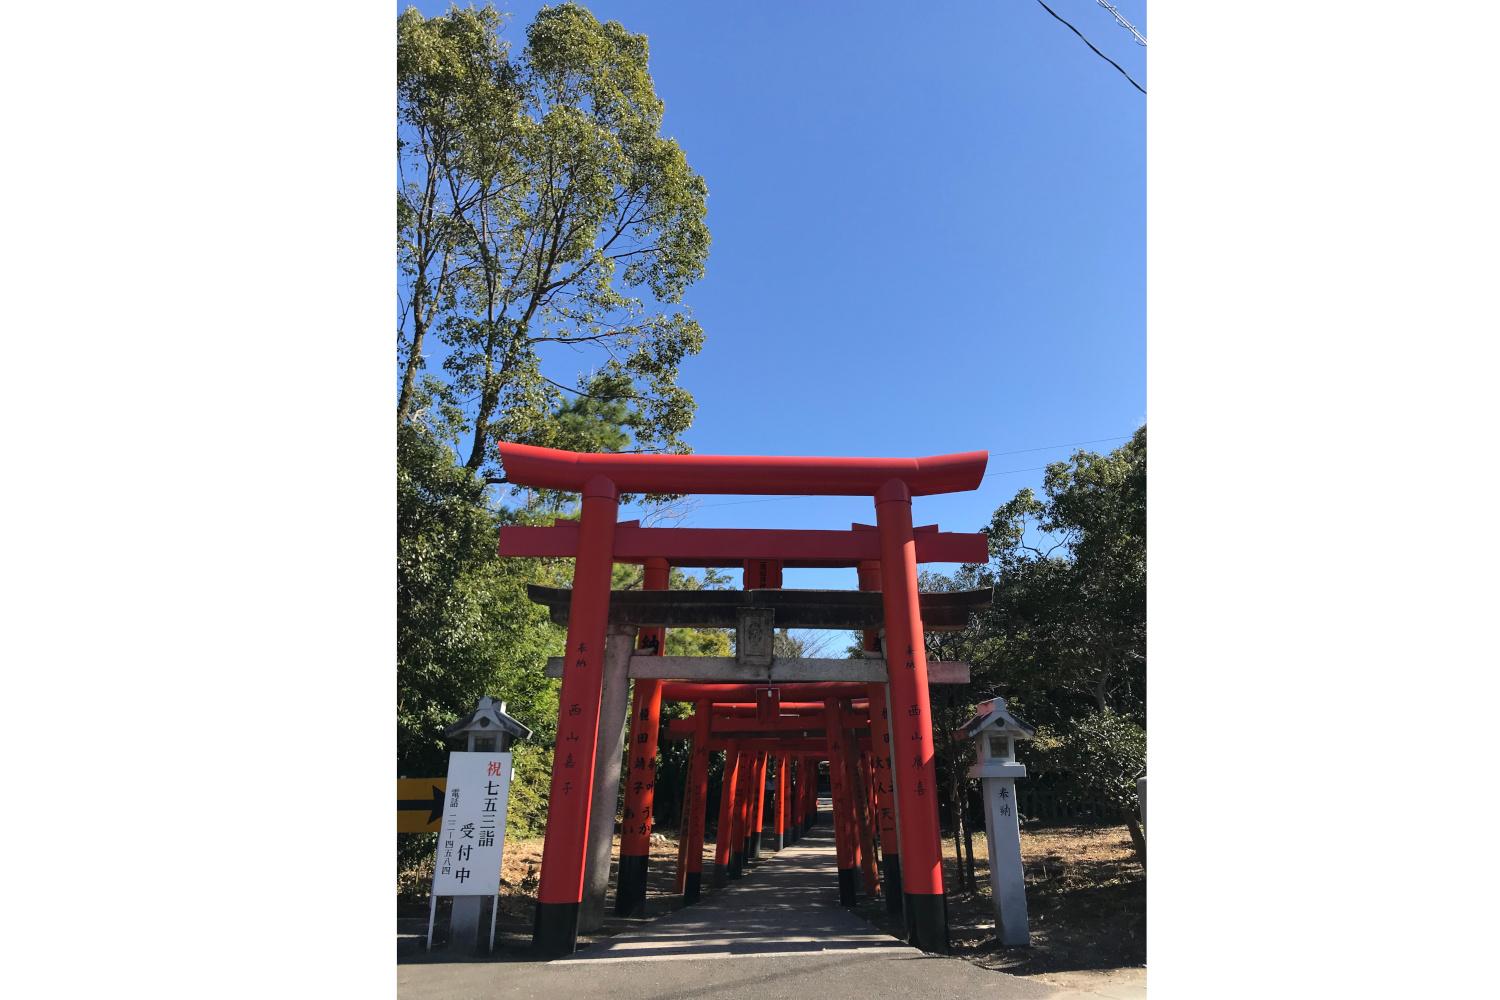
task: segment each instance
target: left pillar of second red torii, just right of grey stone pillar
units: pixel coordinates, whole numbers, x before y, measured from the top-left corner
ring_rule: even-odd
[[[644,588],[664,591],[670,568],[666,559],[646,559]],[[642,628],[640,649],[664,652],[666,631]],[[630,705],[630,733],[626,747],[630,762],[626,780],[626,808],[620,828],[620,876],[615,882],[615,913],[628,916],[646,903],[646,868],[651,859],[651,808],[656,802],[656,751],[662,730],[662,682],[636,681]]]

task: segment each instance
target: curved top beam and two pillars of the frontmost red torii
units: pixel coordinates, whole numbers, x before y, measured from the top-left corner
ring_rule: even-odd
[[[890,729],[892,744],[903,748],[900,760],[892,754],[891,771],[896,778],[897,801],[909,804],[908,808],[897,810],[908,940],[927,951],[946,951],[942,850],[938,810],[933,805],[936,775],[932,708],[916,591],[916,549],[921,537],[912,526],[912,498],[976,489],[984,477],[987,453],[970,451],[922,459],[584,454],[501,442],[500,456],[508,483],[578,492],[582,498],[573,550],[566,669],[558,708],[558,739],[576,747],[570,754],[574,766],[564,768],[554,763],[542,883],[537,891],[534,948],[562,954],[578,946],[594,760],[598,750],[609,583],[614,562],[621,555],[616,553],[616,535],[628,546],[634,534],[666,531],[636,526],[621,529],[622,526],[616,523],[620,493],[632,492],[873,498],[876,531],[850,532],[846,535],[849,541],[842,544],[852,544],[861,550],[855,556],[858,564],[870,561],[866,555],[870,550],[866,538],[873,537],[874,555],[880,565],[885,634],[891,654],[888,685],[894,711],[890,714]],[[782,547],[784,540],[778,543],[777,552],[759,558],[784,558],[786,549]],[[838,555],[849,558],[844,553]],[[639,558],[670,559],[670,555],[664,555],[664,549],[658,547],[640,552]],[[633,561],[628,555],[627,559]],[[902,664],[900,669],[894,666],[896,663]],[[662,685],[662,688],[669,687]],[[843,697],[868,693],[866,685],[849,687],[862,691]],[[682,694],[682,697],[696,696]]]

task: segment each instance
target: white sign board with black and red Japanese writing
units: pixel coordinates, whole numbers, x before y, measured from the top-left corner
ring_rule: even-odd
[[[442,829],[432,870],[432,897],[492,897],[500,892],[510,802],[510,754],[448,754]]]

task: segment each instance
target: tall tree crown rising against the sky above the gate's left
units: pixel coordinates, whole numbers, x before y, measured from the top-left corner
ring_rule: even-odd
[[[448,268],[450,295],[435,300],[435,280],[416,279],[410,294],[420,283],[432,303],[448,349],[447,391],[471,415],[464,465],[494,471],[498,438],[567,444],[567,427],[554,420],[562,390],[627,400],[638,448],[680,450],[694,402],[676,385],[678,369],[704,342],[681,298],[708,256],[708,190],[660,133],[646,39],[561,4],[537,13],[519,58],[502,60],[492,37],[470,30],[474,16],[498,24],[492,7],[402,15],[402,37],[428,31],[468,45],[466,58],[448,61],[492,63],[506,94],[483,127],[468,127],[462,114],[456,124],[444,120],[468,144],[440,162],[454,192],[442,202],[447,256],[435,258]],[[465,30],[434,27],[446,19],[465,19]],[[434,159],[408,159],[405,186],[426,190]],[[554,345],[588,361],[572,385],[544,373]]]

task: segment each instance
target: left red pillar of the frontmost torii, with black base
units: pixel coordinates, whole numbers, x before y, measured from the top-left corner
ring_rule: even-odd
[[[598,699],[604,682],[604,631],[609,627],[609,579],[614,571],[615,517],[620,492],[602,475],[584,484],[573,603],[567,621],[567,654],[558,694],[558,744],[548,798],[542,883],[532,945],[548,954],[578,949],[578,916],[584,901],[594,754],[598,751]]]

